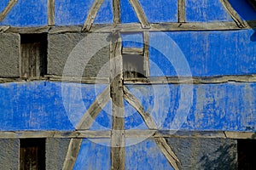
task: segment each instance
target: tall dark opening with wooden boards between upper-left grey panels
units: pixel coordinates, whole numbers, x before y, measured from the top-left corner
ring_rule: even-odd
[[[20,77],[43,77],[47,68],[47,34],[20,34]]]

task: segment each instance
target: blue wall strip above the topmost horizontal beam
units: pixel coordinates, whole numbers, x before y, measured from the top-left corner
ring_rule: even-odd
[[[94,0],[58,0],[55,1],[55,25],[83,25]],[[9,0],[0,4],[0,12]],[[150,23],[177,22],[176,0],[139,0]],[[256,20],[256,11],[247,0],[230,0],[233,8],[242,20]],[[121,0],[121,22],[138,22],[128,0]],[[15,6],[0,21],[0,26],[47,26],[47,0],[18,0]],[[186,22],[232,21],[222,4],[216,0],[185,1]],[[95,23],[113,23],[112,0],[105,0],[99,9]]]

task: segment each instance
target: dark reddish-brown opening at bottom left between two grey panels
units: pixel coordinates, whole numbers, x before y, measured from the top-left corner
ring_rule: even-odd
[[[20,170],[45,170],[45,139],[20,139]]]

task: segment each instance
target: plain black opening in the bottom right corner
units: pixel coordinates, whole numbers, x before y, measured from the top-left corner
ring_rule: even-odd
[[[237,140],[238,169],[253,170],[256,167],[256,140]]]

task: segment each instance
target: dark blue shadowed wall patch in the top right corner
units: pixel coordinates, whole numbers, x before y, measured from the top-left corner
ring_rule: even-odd
[[[232,7],[236,10],[237,14],[241,16],[242,20],[250,21],[256,20],[256,0],[229,0]],[[254,30],[251,36],[251,41],[256,42],[256,24],[252,22],[247,22]]]

